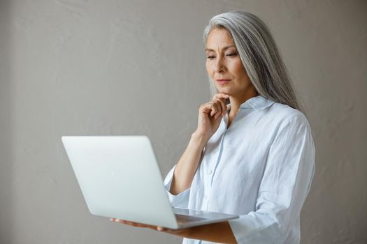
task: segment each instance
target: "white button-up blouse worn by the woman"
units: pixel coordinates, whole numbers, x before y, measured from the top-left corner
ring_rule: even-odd
[[[164,185],[172,206],[240,215],[229,220],[238,243],[299,243],[299,215],[315,172],[308,120],[256,96],[227,123],[228,114],[206,144],[189,189],[171,195],[175,166],[168,172]]]

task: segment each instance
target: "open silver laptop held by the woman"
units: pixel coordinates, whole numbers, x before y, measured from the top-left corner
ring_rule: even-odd
[[[174,208],[146,136],[64,136],[89,212],[168,229],[238,218],[238,215]]]

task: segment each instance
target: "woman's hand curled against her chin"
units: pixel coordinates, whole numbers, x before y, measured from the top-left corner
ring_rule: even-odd
[[[199,107],[198,127],[194,132],[208,142],[208,139],[217,131],[222,117],[226,114],[226,99],[229,95],[217,93],[210,102]]]

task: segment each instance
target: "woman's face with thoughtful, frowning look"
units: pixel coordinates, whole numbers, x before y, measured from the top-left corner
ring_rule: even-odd
[[[233,40],[225,29],[210,31],[206,56],[206,70],[220,93],[243,97],[254,92]]]

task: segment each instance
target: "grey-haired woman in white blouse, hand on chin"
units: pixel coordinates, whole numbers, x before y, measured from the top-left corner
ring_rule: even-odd
[[[215,95],[199,108],[198,126],[164,183],[173,206],[240,218],[179,231],[113,220],[183,243],[299,243],[315,148],[271,33],[255,15],[231,11],[213,17],[203,39]]]

